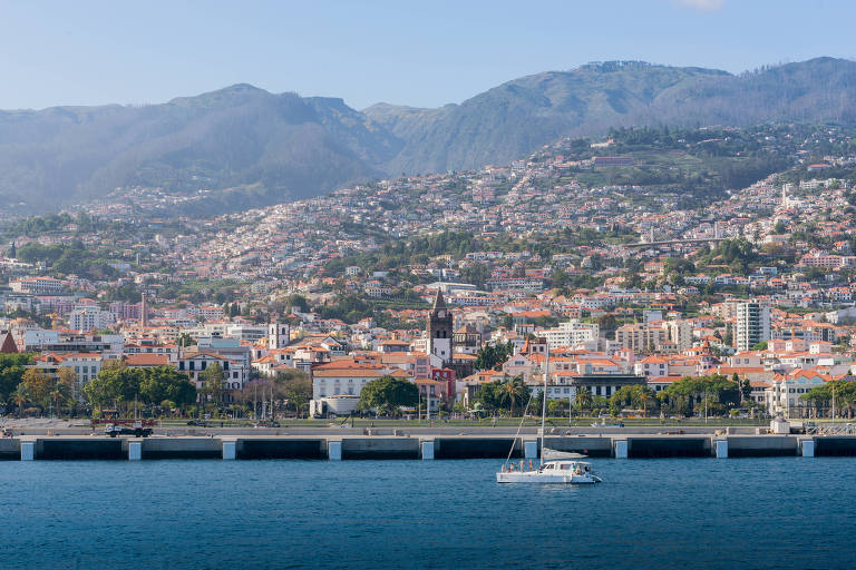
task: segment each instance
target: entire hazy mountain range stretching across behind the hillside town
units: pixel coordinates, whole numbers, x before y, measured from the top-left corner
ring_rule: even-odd
[[[856,124],[856,62],[818,58],[735,76],[606,62],[523,77],[418,109],[236,85],[145,107],[0,111],[0,199],[41,212],[119,186],[232,189],[234,207],[385,176],[507,164],[564,136],[631,125]]]

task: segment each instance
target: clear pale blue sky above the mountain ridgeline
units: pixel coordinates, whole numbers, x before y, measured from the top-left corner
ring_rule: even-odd
[[[145,105],[234,83],[439,107],[635,59],[741,72],[856,59],[854,0],[0,0],[0,109]]]

